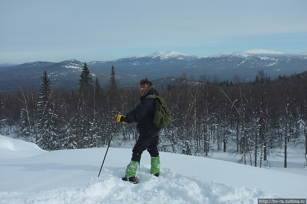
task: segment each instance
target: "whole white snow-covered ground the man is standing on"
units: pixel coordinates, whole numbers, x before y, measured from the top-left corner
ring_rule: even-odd
[[[110,147],[98,177],[106,148],[48,152],[33,143],[0,139],[2,204],[257,203],[258,198],[307,195],[307,173],[160,152],[161,176],[155,177],[149,174],[150,156],[145,151],[139,183],[131,184],[121,180],[131,149]]]

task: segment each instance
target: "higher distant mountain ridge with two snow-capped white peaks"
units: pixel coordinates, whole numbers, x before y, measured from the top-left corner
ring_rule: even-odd
[[[236,75],[242,80],[254,80],[260,69],[264,69],[271,78],[305,71],[307,54],[284,54],[274,50],[252,49],[199,57],[169,51],[88,64],[99,69],[109,69],[114,65],[116,70],[153,78],[179,77],[186,73],[196,78],[206,75],[217,76],[220,80],[233,80]]]

